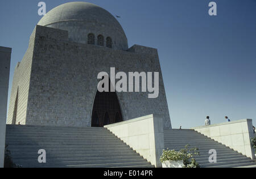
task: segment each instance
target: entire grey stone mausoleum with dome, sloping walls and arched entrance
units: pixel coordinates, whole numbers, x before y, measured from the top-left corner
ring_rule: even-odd
[[[98,73],[111,67],[159,72],[159,96],[98,92]],[[65,3],[43,16],[15,67],[8,124],[103,127],[148,114],[171,129],[157,49],[129,48],[117,19],[91,3]]]

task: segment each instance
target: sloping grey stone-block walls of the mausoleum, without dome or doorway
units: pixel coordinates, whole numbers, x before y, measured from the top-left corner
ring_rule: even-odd
[[[80,44],[69,41],[68,31],[40,25],[15,69],[8,123],[16,113],[15,123],[26,125],[91,126],[97,75],[110,74],[110,67],[116,73],[159,72],[158,98],[148,99],[148,92],[117,92],[117,96],[123,120],[154,114],[171,128],[156,49],[134,45],[125,51]]]

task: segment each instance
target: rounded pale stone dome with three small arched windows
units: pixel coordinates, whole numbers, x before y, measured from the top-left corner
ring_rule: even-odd
[[[69,40],[127,50],[123,28],[112,14],[87,2],[69,2],[49,11],[38,25],[68,31]]]

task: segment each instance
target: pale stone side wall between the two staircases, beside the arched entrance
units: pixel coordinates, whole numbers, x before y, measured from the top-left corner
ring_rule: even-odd
[[[163,120],[153,114],[104,126],[133,150],[160,168],[164,149]]]

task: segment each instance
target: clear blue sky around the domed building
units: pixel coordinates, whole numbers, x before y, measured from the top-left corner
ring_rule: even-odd
[[[13,48],[14,67],[42,16],[38,1],[0,1],[0,46]],[[65,2],[47,0],[47,11]],[[184,128],[253,118],[256,126],[256,1],[95,0],[118,19],[129,46],[158,48],[172,126]],[[10,92],[10,90],[9,90]]]

